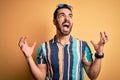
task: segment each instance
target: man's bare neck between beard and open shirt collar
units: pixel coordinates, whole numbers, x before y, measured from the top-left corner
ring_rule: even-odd
[[[69,43],[70,35],[62,36],[62,35],[57,34],[56,38],[58,42],[60,42],[62,45],[65,45]]]

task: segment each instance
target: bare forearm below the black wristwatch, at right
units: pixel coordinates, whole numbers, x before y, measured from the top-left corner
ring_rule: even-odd
[[[88,76],[91,80],[96,80],[101,70],[101,59],[95,58],[88,70]]]

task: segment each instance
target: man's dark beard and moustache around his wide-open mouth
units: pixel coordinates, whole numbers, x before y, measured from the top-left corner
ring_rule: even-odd
[[[69,26],[63,26],[63,24],[66,22],[69,23]],[[72,26],[73,26],[73,24],[71,24],[69,21],[64,21],[61,25],[57,21],[57,24],[56,24],[56,28],[62,36],[69,35],[72,30]],[[64,27],[68,30],[64,30]]]

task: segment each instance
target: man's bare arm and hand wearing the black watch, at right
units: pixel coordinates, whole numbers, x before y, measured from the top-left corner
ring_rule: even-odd
[[[104,44],[107,41],[108,41],[108,37],[105,32],[104,32],[104,36],[102,35],[102,33],[100,33],[100,41],[97,44],[91,41],[96,51],[96,54],[103,54]],[[98,77],[101,70],[101,61],[102,60],[100,58],[95,58],[93,62],[87,62],[84,55],[83,62],[85,64],[85,70],[91,80],[96,80],[96,78]]]

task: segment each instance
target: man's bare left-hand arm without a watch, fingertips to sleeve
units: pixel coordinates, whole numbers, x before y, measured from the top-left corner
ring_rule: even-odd
[[[28,62],[30,71],[32,72],[33,76],[37,80],[45,80],[46,70],[47,70],[46,65],[45,64],[36,65],[34,60],[33,60],[33,57],[32,57],[35,45],[36,45],[36,43],[34,43],[32,45],[32,47],[29,47],[27,44],[26,37],[22,37],[19,41],[19,47],[20,47],[21,51],[23,52],[23,54]]]

